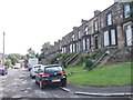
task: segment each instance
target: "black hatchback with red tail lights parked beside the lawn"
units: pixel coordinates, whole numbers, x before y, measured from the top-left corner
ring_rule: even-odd
[[[38,72],[35,74],[35,83],[38,83],[41,89],[44,89],[51,84],[59,84],[61,87],[65,87],[65,71],[59,64],[43,66],[38,69]]]

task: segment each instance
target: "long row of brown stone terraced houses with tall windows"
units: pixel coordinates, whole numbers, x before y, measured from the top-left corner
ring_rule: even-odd
[[[115,2],[104,11],[94,11],[94,17],[83,20],[80,27],[54,42],[44,56],[57,53],[91,53],[95,49],[114,50],[131,47],[133,37],[133,2]]]

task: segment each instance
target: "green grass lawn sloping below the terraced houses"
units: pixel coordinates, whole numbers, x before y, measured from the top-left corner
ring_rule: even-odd
[[[83,66],[68,67],[65,69],[68,81],[82,86],[129,86],[131,84],[131,62],[123,62],[115,66],[95,68],[91,71],[84,70]]]

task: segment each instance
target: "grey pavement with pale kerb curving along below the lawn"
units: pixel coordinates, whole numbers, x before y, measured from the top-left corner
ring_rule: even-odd
[[[66,92],[72,92],[82,96],[94,97],[133,97],[133,87],[86,87],[68,84],[65,88],[61,88]]]

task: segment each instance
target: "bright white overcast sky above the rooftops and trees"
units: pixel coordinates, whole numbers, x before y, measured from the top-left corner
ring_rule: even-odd
[[[42,44],[62,39],[81,19],[93,18],[114,0],[0,0],[0,52],[27,54],[29,48],[40,53]]]

